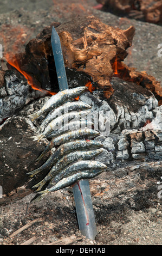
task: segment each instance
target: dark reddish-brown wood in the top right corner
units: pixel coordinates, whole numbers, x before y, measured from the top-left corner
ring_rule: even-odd
[[[151,23],[162,22],[161,0],[96,0],[111,13],[145,20]]]

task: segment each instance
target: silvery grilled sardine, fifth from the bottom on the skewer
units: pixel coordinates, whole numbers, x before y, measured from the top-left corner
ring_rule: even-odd
[[[92,129],[83,129],[83,130],[77,130],[72,132],[67,132],[57,138],[52,139],[47,147],[44,149],[43,153],[36,159],[36,161],[40,161],[42,157],[52,148],[61,145],[63,143],[66,143],[68,141],[74,141],[74,139],[81,139],[85,137],[94,138],[98,136],[100,133],[98,131],[92,130]]]

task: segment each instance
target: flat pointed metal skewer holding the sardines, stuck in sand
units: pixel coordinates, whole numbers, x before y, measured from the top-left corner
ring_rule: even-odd
[[[51,33],[51,45],[53,48],[57,78],[60,90],[68,89],[66,70],[61,49],[59,35],[53,27]],[[89,181],[80,180],[73,187],[73,194],[76,206],[77,221],[81,234],[87,239],[95,239],[97,234],[92,199],[89,190]]]

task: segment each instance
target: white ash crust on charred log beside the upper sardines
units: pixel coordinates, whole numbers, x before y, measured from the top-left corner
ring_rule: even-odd
[[[85,92],[80,96],[80,100],[92,106],[91,112],[92,120],[94,119],[94,122],[96,113],[101,113],[101,115],[103,115],[103,120],[105,121],[104,125],[109,123],[110,132],[120,133],[125,129],[139,129],[140,124],[144,123],[144,120],[153,120],[156,116],[158,101],[153,94],[148,99],[138,93],[135,93],[134,97],[137,97],[137,99],[139,98],[141,103],[138,112],[130,111],[129,106],[122,106],[119,102],[115,102],[114,108],[112,109],[108,102],[98,99],[96,92],[93,94]],[[115,113],[115,110],[117,113]],[[106,113],[108,113],[107,116]],[[100,131],[100,129],[96,130]]]

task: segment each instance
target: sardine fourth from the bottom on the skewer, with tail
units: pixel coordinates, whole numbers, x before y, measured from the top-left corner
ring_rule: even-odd
[[[73,152],[74,150],[82,150],[82,149],[96,149],[96,148],[102,148],[103,145],[101,142],[93,141],[93,140],[76,140],[76,141],[70,141],[63,145],[60,145],[59,148],[56,149],[53,155],[49,157],[49,159],[42,164],[41,167],[27,173],[27,175],[30,175],[33,177],[37,173],[41,172],[44,169],[51,168],[55,162],[57,162],[63,155],[68,154],[69,152]]]

